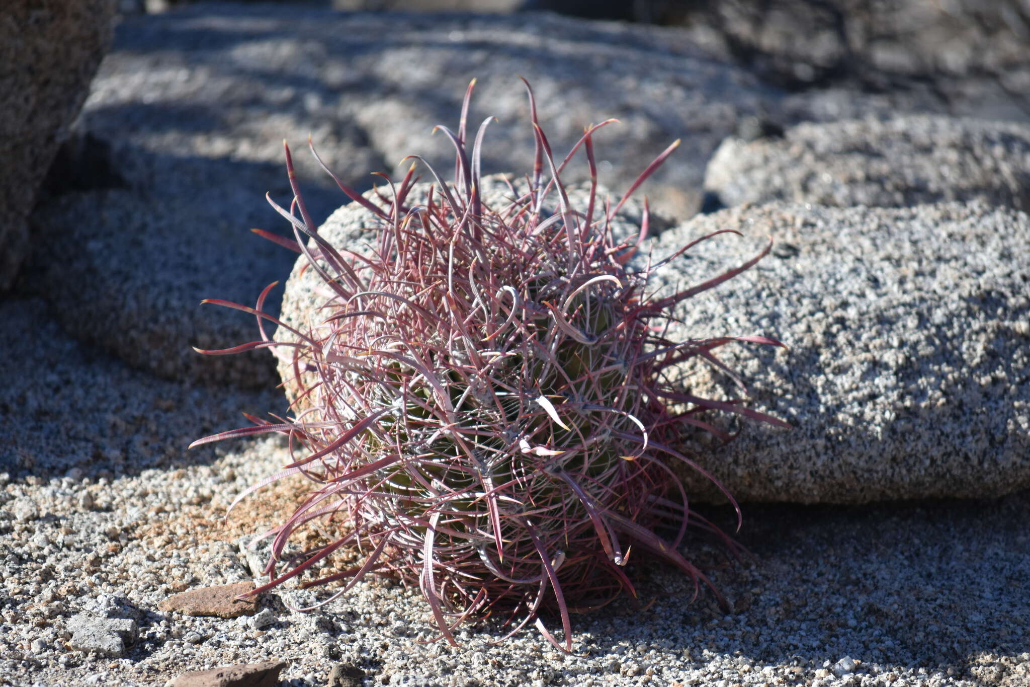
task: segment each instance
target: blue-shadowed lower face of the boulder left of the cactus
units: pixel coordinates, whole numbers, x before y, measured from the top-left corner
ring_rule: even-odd
[[[283,187],[272,165],[151,154],[113,146],[127,188],[69,193],[33,215],[39,245],[27,288],[44,296],[78,340],[164,379],[274,383],[267,351],[206,356],[260,339],[253,316],[212,305],[253,306],[293,257],[247,230],[280,221],[262,197]],[[275,185],[273,185],[275,184]],[[275,300],[268,308],[277,312]]]

